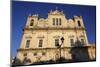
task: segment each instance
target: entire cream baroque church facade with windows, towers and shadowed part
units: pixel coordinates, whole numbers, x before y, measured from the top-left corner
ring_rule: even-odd
[[[87,51],[86,51],[87,50]],[[88,43],[82,16],[67,19],[63,11],[54,10],[46,19],[29,15],[17,58],[25,63],[72,59],[94,59],[95,46]]]

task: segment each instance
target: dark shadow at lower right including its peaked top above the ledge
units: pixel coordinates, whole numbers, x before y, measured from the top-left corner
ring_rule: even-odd
[[[72,61],[89,61],[88,46],[84,42],[77,40],[71,48]]]

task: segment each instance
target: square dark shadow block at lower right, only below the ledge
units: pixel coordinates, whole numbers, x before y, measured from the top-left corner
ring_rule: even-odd
[[[89,61],[89,53],[88,47],[72,47],[71,49],[72,61],[73,62],[81,62],[81,61]]]

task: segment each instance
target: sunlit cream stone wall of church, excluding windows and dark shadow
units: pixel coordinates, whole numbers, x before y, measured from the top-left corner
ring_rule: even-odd
[[[53,25],[53,18],[60,18],[61,25]],[[32,26],[31,23],[33,23]],[[71,46],[70,39],[74,39],[74,42],[83,39],[85,42],[83,46],[89,46],[82,16],[67,19],[62,12],[57,10],[50,12],[46,19],[39,19],[38,15],[29,16],[23,31],[21,50],[18,50],[17,58],[23,61],[27,57],[31,59],[31,63],[57,60],[60,57],[60,50],[55,46],[55,39],[59,39],[59,44],[61,44],[60,39],[62,37],[64,37],[64,43],[61,46],[61,57],[65,59],[72,59],[71,50],[73,46]],[[39,47],[40,39],[43,40],[42,47]],[[27,40],[30,40],[29,48],[25,48]],[[89,48],[89,56],[91,56],[90,52],[91,49]],[[25,53],[27,53],[27,56],[24,56]],[[37,53],[37,55],[34,56],[34,53]],[[42,53],[45,53],[45,55],[42,55]]]

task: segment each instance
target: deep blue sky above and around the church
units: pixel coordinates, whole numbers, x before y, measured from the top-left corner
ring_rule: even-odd
[[[66,18],[73,18],[74,15],[82,16],[86,27],[89,43],[96,42],[96,7],[87,5],[55,4],[39,2],[12,1],[12,32],[11,32],[11,53],[16,56],[16,50],[20,47],[23,31],[28,15],[39,14],[46,18],[50,10],[63,10]]]

